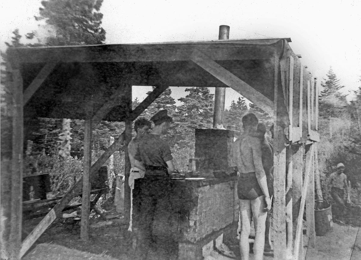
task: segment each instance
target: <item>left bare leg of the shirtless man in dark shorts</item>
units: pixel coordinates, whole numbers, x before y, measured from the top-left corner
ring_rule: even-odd
[[[248,260],[249,257],[249,242],[248,236],[251,232],[251,221],[252,221],[252,209],[251,200],[240,199],[239,200],[239,212],[241,217],[241,232],[239,239],[239,249],[242,260]]]

